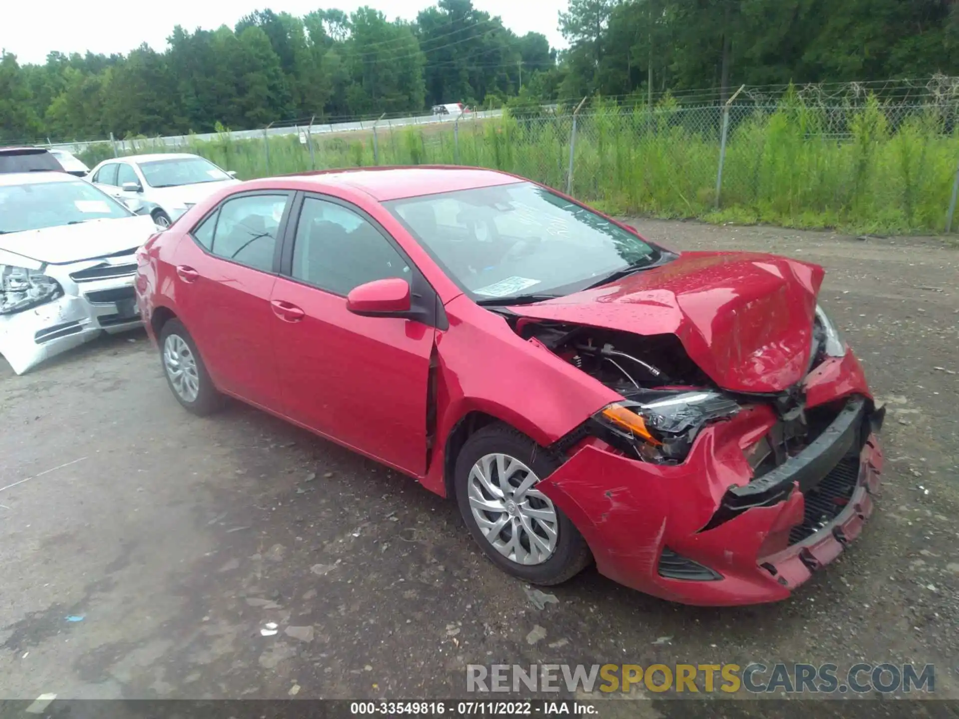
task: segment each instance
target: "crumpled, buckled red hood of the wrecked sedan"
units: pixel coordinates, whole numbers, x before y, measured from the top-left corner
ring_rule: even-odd
[[[775,255],[685,252],[663,267],[512,310],[636,335],[679,337],[720,387],[778,392],[806,374],[823,268]]]

